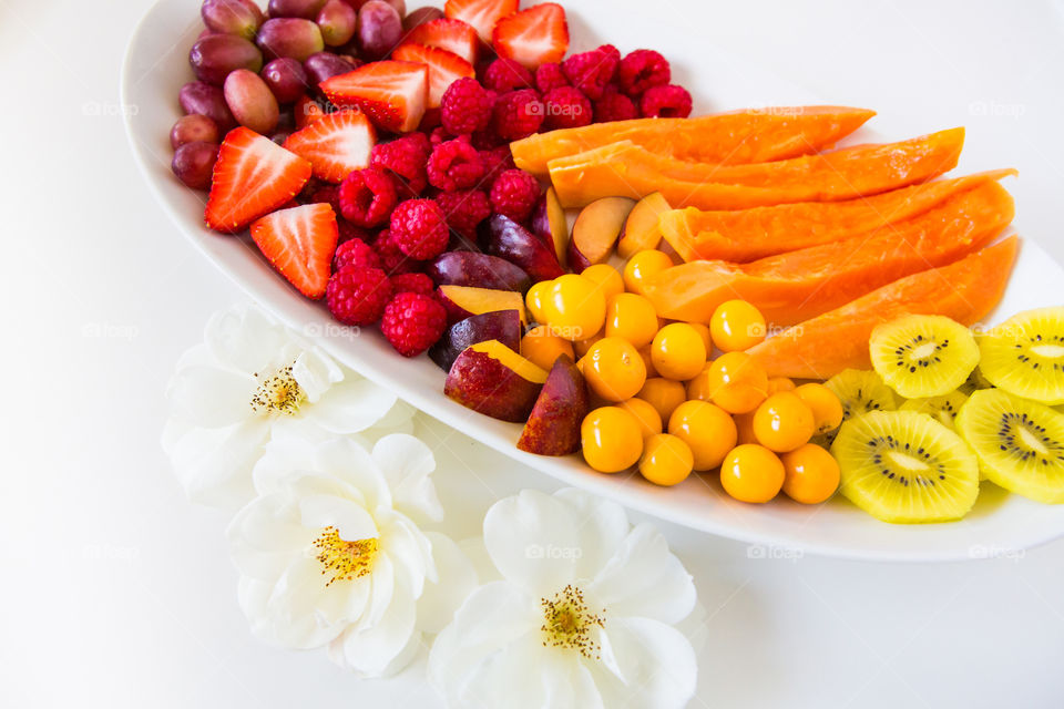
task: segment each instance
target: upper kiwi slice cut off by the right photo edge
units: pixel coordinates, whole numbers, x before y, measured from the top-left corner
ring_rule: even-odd
[[[1064,307],[1015,315],[983,333],[979,368],[999,389],[1050,405],[1064,403]]]

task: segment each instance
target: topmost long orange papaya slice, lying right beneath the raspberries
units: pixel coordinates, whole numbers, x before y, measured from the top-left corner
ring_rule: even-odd
[[[739,165],[809,155],[849,135],[874,111],[846,106],[744,109],[695,119],[634,119],[539,133],[510,144],[521,169],[546,176],[555,157],[618,141],[697,163]]]

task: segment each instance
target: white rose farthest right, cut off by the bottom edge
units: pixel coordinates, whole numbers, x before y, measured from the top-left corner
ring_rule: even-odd
[[[488,511],[484,545],[502,579],[469,596],[429,656],[451,707],[668,709],[694,695],[675,625],[695,586],[654,527],[581,491],[524,491]]]

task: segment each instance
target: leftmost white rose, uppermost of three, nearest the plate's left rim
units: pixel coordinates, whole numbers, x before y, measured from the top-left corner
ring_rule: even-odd
[[[207,322],[177,364],[163,449],[190,499],[235,510],[254,494],[252,467],[269,441],[410,432],[413,409],[341,368],[256,307]]]

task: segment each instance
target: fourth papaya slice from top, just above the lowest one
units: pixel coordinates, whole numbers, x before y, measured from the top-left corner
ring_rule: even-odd
[[[655,276],[644,295],[663,318],[708,322],[726,300],[756,306],[767,322],[789,326],[838,308],[880,286],[963,258],[1012,222],[1012,195],[988,182],[889,227],[749,264],[690,261]]]

